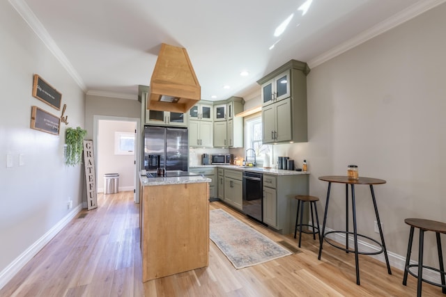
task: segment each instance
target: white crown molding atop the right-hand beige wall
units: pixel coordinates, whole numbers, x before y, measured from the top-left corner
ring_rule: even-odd
[[[340,54],[343,54],[349,49],[357,47],[358,45],[361,45],[367,40],[370,40],[371,38],[374,38],[377,35],[385,33],[386,31],[389,31],[390,29],[398,26],[399,24],[403,24],[403,22],[407,22],[409,19],[413,19],[417,15],[421,15],[427,10],[439,6],[444,2],[446,2],[446,0],[420,0],[417,3],[413,4],[413,6],[410,6],[405,10],[401,10],[401,12],[397,13],[396,15],[393,15],[392,17],[385,19],[383,22],[380,22],[375,26],[371,27],[370,29],[363,31],[359,35],[356,35],[354,38],[351,38],[350,40],[341,43],[341,45],[333,47],[329,51],[325,51],[324,54],[321,54],[320,56],[317,56],[316,58],[310,60],[308,62],[308,65],[310,68],[314,68],[318,65],[321,65],[322,63],[325,63],[326,61],[329,61],[330,59],[339,56]]]

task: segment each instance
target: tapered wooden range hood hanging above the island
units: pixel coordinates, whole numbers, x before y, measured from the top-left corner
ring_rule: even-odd
[[[147,109],[185,113],[201,98],[201,87],[184,47],[161,44]]]

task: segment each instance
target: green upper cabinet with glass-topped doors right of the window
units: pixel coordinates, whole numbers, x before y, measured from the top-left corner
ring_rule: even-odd
[[[299,143],[307,136],[307,63],[291,60],[263,77],[263,143]]]

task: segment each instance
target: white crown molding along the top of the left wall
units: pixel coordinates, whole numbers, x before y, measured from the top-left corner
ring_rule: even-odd
[[[75,68],[71,65],[68,58],[63,54],[61,49],[56,45],[51,35],[49,35],[48,31],[45,29],[43,24],[39,21],[39,19],[34,15],[33,11],[26,4],[24,0],[9,0],[9,3],[17,10],[17,13],[24,19],[26,24],[28,24],[31,29],[38,35],[38,38],[43,41],[43,43],[47,46],[49,51],[56,57],[56,59],[61,63],[61,65],[67,70],[68,74],[75,80],[79,88],[86,92],[86,85],[79,73],[75,70]]]

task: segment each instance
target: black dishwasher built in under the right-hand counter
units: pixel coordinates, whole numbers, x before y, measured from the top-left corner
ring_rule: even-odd
[[[243,212],[263,223],[263,174],[243,171]]]

